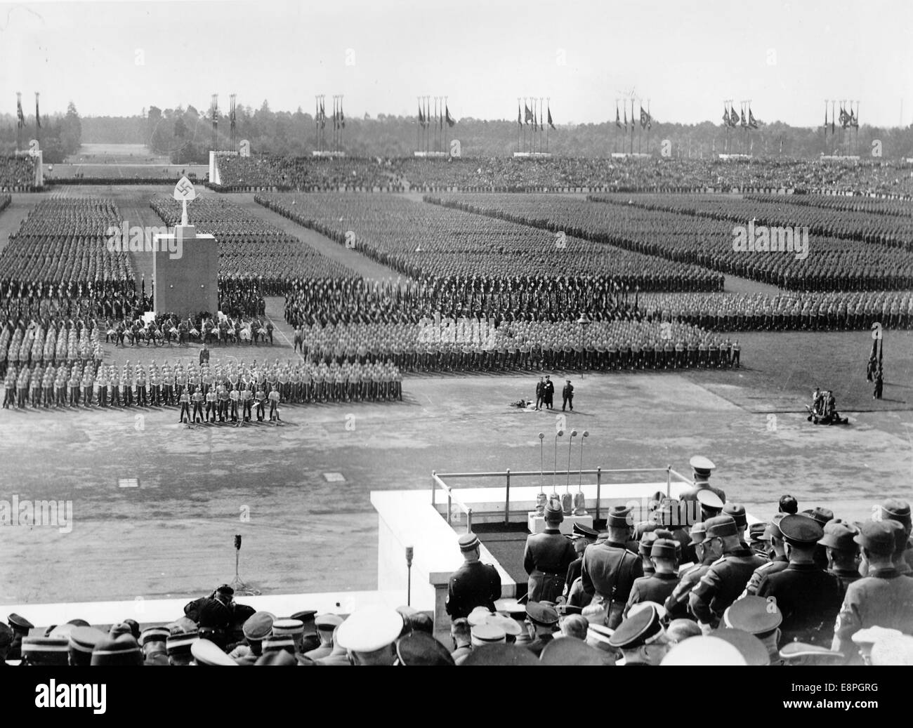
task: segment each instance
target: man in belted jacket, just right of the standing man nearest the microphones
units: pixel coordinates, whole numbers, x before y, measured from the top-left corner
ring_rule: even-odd
[[[633,531],[631,509],[614,505],[606,518],[608,539],[594,544],[583,554],[582,586],[593,595],[593,603],[605,606],[607,626],[615,629],[622,621],[624,605],[636,578],[644,576],[640,556],[624,544]]]

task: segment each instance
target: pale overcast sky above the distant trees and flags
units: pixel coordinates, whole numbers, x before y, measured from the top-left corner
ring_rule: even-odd
[[[820,125],[824,99],[862,123],[913,120],[913,3],[846,0],[0,1],[0,112],[132,115],[238,103],[348,116],[415,114],[446,95],[457,119],[513,119],[550,97],[556,123],[614,119],[650,99],[657,120],[719,122],[723,99],[759,120]],[[330,108],[330,104],[327,104]]]

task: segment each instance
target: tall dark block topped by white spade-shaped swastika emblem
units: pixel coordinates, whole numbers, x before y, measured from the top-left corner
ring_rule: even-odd
[[[187,203],[195,198],[186,177],[174,188],[174,199],[184,205],[181,224],[173,233],[156,235],[152,245],[152,281],[156,314],[174,313],[181,318],[201,311],[215,316],[219,307],[219,247],[210,234],[197,234],[187,223]]]

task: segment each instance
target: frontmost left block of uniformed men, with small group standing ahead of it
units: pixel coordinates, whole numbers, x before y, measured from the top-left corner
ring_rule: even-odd
[[[391,362],[338,363],[214,361],[201,349],[199,364],[159,366],[127,361],[122,367],[89,362],[7,369],[5,409],[173,407],[184,421],[278,419],[278,403],[314,404],[403,399],[402,375]]]

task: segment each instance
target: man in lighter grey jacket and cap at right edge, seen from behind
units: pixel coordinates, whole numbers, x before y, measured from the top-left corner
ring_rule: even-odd
[[[868,576],[846,588],[834,626],[834,651],[854,655],[853,635],[868,627],[913,634],[913,578],[901,576],[894,566],[897,532],[903,530],[903,525],[893,520],[866,521],[860,526],[855,542],[862,554],[860,568],[865,568]],[[851,661],[857,661],[855,655]]]

